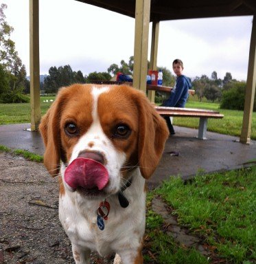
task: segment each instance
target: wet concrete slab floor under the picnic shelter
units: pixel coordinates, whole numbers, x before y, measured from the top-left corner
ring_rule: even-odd
[[[43,140],[38,132],[25,131],[30,124],[0,126],[0,144],[43,155]],[[187,179],[199,171],[210,173],[218,170],[240,168],[244,162],[256,159],[256,141],[250,145],[239,143],[238,137],[207,132],[207,140],[198,140],[197,129],[174,126],[176,134],[165,144],[163,157],[154,174],[148,179],[149,187],[161,184],[170,175]],[[171,155],[172,152],[178,156]]]

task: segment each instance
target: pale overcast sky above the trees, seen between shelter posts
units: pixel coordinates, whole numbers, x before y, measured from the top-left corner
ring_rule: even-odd
[[[6,20],[14,28],[11,39],[29,76],[29,0],[0,3],[8,5]],[[109,65],[119,65],[122,59],[128,62],[133,55],[135,19],[74,0],[39,3],[40,74],[47,74],[51,66],[67,64],[83,74],[106,72]],[[246,80],[252,20],[229,17],[160,22],[157,65],[173,73],[172,61],[181,58],[183,73],[189,77],[211,77],[216,71],[218,78],[231,72],[233,78]]]

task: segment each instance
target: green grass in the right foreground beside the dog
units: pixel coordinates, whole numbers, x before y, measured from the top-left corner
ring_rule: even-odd
[[[226,173],[198,175],[191,181],[170,178],[169,181],[150,193],[161,195],[173,208],[178,223],[190,232],[205,237],[214,254],[224,263],[254,263],[256,237],[256,166],[231,170]],[[150,211],[149,211],[150,212]],[[148,236],[151,238],[152,253],[165,259],[156,263],[211,263],[198,252],[177,245],[161,231],[163,221],[159,216],[147,219]],[[152,223],[152,221],[154,221]],[[150,221],[150,223],[148,223]],[[158,226],[158,228],[157,228]],[[168,249],[168,250],[166,250]],[[171,261],[180,254],[183,261]],[[172,256],[170,257],[170,254]],[[169,259],[168,259],[169,256]],[[186,258],[199,258],[191,259]],[[146,256],[148,259],[149,256]],[[149,260],[148,260],[149,261]],[[146,262],[147,263],[147,262]],[[150,262],[148,262],[150,263]]]

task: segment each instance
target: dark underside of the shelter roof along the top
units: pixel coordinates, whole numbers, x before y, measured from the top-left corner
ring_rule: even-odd
[[[136,0],[76,0],[135,17]],[[256,14],[255,0],[151,0],[150,21]]]

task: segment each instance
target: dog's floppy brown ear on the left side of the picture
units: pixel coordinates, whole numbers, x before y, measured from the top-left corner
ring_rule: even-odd
[[[56,97],[39,125],[45,144],[44,164],[53,177],[58,175],[60,171],[60,113],[62,101],[62,96]]]

